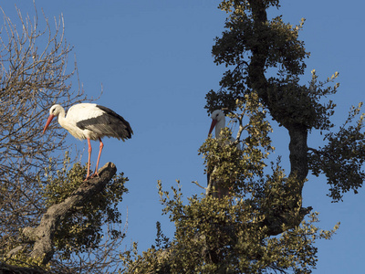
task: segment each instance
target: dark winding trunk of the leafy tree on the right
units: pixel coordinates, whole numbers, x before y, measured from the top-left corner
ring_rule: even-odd
[[[264,224],[268,227],[268,235],[278,235],[283,232],[282,225],[293,227],[298,226],[301,220],[306,216],[311,207],[302,208],[301,198],[302,189],[308,175],[308,126],[298,123],[290,123],[282,121],[281,115],[276,110],[275,104],[280,103],[279,100],[270,100],[270,84],[266,80],[265,68],[268,52],[268,43],[265,41],[266,33],[266,5],[264,1],[249,0],[254,18],[255,32],[261,33],[261,40],[257,41],[257,46],[252,50],[252,58],[248,67],[247,85],[251,90],[258,93],[260,99],[266,105],[270,114],[278,123],[287,128],[290,136],[289,143],[289,160],[290,174],[289,178],[296,178],[298,184],[296,189],[290,189],[290,194],[295,196],[293,203],[286,205],[284,212],[278,213],[277,216],[267,216]],[[299,206],[299,208],[298,208]],[[293,217],[295,221],[293,222]],[[287,222],[291,219],[290,223]]]

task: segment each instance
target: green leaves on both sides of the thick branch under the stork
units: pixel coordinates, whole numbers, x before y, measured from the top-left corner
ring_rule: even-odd
[[[83,184],[87,164],[82,167],[80,163],[74,163],[68,170],[69,161],[66,153],[64,166],[55,176],[47,171],[47,184],[41,185],[47,207],[63,202]],[[122,195],[128,192],[124,185],[126,182],[128,178],[123,174],[115,176],[101,193],[92,197],[88,204],[75,208],[72,217],[62,222],[55,236],[55,245],[64,258],[69,258],[74,252],[78,254],[98,247],[104,224],[121,224],[117,205]],[[120,230],[112,229],[110,233],[112,238],[124,237]]]

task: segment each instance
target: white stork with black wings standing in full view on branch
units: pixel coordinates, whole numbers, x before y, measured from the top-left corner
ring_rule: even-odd
[[[65,117],[65,110],[60,105],[53,105],[49,110],[49,117],[43,133],[46,132],[49,123],[54,117],[58,116],[58,122],[72,136],[79,140],[88,140],[89,159],[88,159],[88,174],[85,180],[90,177],[99,175],[98,166],[102,148],[104,147],[101,138],[104,136],[114,137],[124,141],[130,139],[133,134],[130,123],[125,121],[123,117],[110,109],[91,103],[80,103],[72,106],[68,110],[68,115]],[[91,143],[90,140],[99,139],[99,156],[95,173],[90,176],[90,158],[91,158]]]

